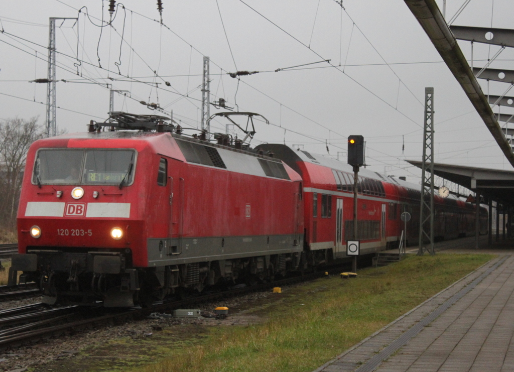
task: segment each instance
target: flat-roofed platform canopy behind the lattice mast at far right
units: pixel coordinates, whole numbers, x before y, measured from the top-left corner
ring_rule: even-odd
[[[407,160],[421,168],[421,162]],[[501,171],[473,166],[434,163],[434,175],[476,190],[486,199],[500,203],[514,203],[514,171]]]

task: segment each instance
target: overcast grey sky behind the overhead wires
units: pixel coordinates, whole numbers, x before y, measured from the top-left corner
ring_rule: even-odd
[[[66,80],[57,83],[57,123],[67,132],[107,118],[107,84],[128,91],[115,96],[117,111],[160,114],[139,101],[158,103],[182,126],[198,128],[207,55],[211,102],[224,98],[270,121],[256,123],[254,145],[285,141],[345,161],[346,137],[360,134],[370,169],[418,182],[420,172],[403,159],[421,158],[431,86],[435,161],[512,168],[402,0],[344,0],[344,9],[335,0],[162,0],[162,25],[155,0],[126,0],[124,9],[117,2],[112,27],[101,28],[108,3],[0,2],[0,120],[39,116],[45,123],[46,84],[29,81],[47,77],[49,17],[78,17],[57,23],[57,79]],[[447,0],[447,20],[463,3]],[[508,0],[472,0],[453,24],[511,28],[513,13]],[[470,43],[459,44],[471,60]],[[475,43],[474,66],[499,49]],[[505,49],[490,67],[514,69],[512,60]],[[227,75],[237,70],[260,72]],[[509,88],[481,84],[491,95]],[[225,132],[225,124],[212,123],[211,132]]]

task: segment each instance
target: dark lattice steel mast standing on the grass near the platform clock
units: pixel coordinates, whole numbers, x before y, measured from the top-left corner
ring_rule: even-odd
[[[427,175],[427,171],[430,172],[430,176]],[[427,225],[429,225],[428,228]],[[428,87],[425,88],[418,255],[424,253],[423,240],[425,237],[429,239],[430,244],[427,250],[430,255],[434,255],[434,88]]]

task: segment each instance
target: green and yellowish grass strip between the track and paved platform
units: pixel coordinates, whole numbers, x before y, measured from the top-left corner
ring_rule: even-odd
[[[446,288],[492,255],[408,256],[359,270],[355,279],[321,279],[271,305],[265,324],[218,327],[195,346],[139,372],[311,371]]]

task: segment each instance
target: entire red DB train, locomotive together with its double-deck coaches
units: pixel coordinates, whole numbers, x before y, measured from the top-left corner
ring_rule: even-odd
[[[20,280],[38,283],[48,304],[147,306],[346,258],[351,166],[283,144],[252,149],[228,135],[207,137],[186,136],[164,117],[113,113],[88,132],[34,142],[11,284],[22,271]],[[416,217],[419,208],[416,189],[359,173],[361,253],[398,244],[399,215]],[[434,198],[437,238],[473,233],[474,206]],[[484,230],[482,208],[481,219]],[[411,244],[417,228],[413,218]]]

